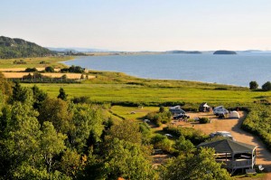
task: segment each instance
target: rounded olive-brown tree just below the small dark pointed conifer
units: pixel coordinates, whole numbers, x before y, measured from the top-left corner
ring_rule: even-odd
[[[63,134],[70,130],[70,123],[72,113],[70,112],[68,102],[61,99],[50,99],[47,98],[42,102],[40,109],[39,120],[41,124],[44,121],[50,121],[57,132]]]

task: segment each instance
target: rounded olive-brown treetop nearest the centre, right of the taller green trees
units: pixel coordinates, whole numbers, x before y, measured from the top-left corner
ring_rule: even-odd
[[[108,138],[118,138],[131,143],[141,144],[139,126],[132,120],[124,120],[118,125],[112,126],[108,132]]]

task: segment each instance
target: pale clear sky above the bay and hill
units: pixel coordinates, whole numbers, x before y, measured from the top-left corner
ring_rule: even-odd
[[[270,51],[271,1],[0,0],[0,35],[110,51]]]

